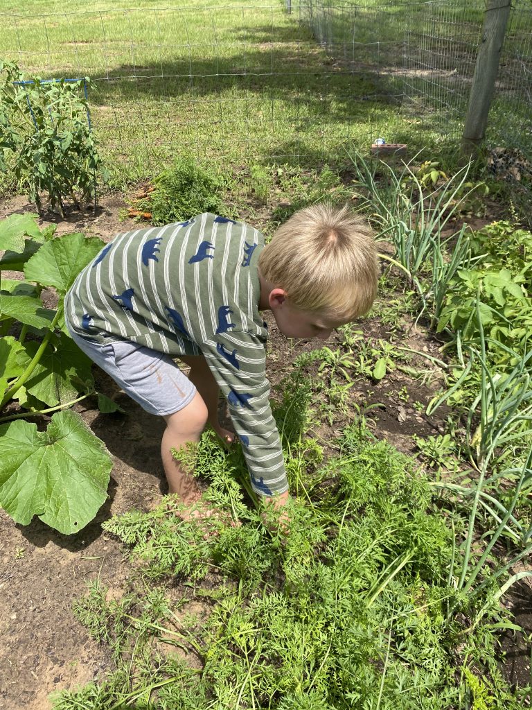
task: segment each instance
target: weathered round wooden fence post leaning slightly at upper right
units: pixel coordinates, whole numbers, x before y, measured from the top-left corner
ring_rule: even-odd
[[[462,133],[462,153],[472,155],[477,151],[486,132],[489,107],[499,71],[504,33],[510,14],[511,0],[487,0],[482,27],[475,75],[471,87],[464,132]]]

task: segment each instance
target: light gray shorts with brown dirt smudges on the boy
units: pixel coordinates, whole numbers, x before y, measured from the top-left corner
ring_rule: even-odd
[[[179,412],[194,399],[196,388],[169,355],[131,340],[101,345],[71,331],[70,335],[146,412],[164,417]]]

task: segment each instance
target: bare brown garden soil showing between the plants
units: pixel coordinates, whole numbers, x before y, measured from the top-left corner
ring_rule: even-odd
[[[120,219],[125,208],[123,197],[110,195],[99,202],[96,210],[72,211],[66,219],[47,213],[40,224],[55,222],[56,234],[82,231],[109,241],[120,231],[135,229],[134,222]],[[35,206],[19,197],[0,203],[0,217],[13,212],[35,212]],[[3,274],[20,278],[16,274]],[[54,298],[52,292],[47,293],[47,305],[53,305]],[[271,318],[267,320],[271,336],[267,371],[275,396],[275,387],[289,373],[294,358],[303,351],[323,346],[323,342],[289,341],[277,332]],[[378,320],[367,320],[362,327],[370,337],[387,337]],[[403,330],[404,345],[440,355],[438,342],[422,327],[415,327],[405,318]],[[331,349],[338,347],[336,338],[333,335],[328,343]],[[165,493],[159,450],[164,422],[143,412],[104,373],[96,373],[96,385],[124,410],[101,415],[96,400],[91,399],[77,405],[77,412],[104,441],[113,459],[109,498],[96,518],[77,535],[66,536],[48,528],[38,518],[30,525],[18,525],[0,510],[0,710],[49,710],[50,694],[102,679],[106,671],[113,669],[108,648],[93,640],[76,620],[72,603],[95,578],[109,587],[110,597],[121,596],[128,577],[128,562],[122,545],[104,534],[101,523],[131,508],[150,510]],[[409,391],[408,403],[398,395],[405,387]],[[353,411],[367,410],[366,416],[377,437],[413,454],[412,435],[423,437],[444,431],[445,410],[438,410],[436,417],[428,419],[412,406],[415,402],[426,405],[437,387],[437,380],[420,386],[394,371],[379,383],[355,383],[350,397]],[[368,405],[374,406],[368,410]],[[45,425],[42,419],[35,419],[39,427]],[[345,423],[347,420],[341,419],[336,419],[333,427],[323,423],[316,435],[326,445]],[[508,601],[516,622],[529,632],[531,598],[530,586],[523,583]],[[510,635],[503,639],[503,644],[507,677],[526,683],[529,677],[526,648],[516,645]]]

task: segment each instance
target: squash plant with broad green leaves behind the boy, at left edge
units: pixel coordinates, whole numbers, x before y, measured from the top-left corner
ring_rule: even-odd
[[[94,394],[94,379],[91,361],[65,331],[63,300],[104,243],[83,234],[58,239],[54,231],[40,231],[32,214],[0,222],[0,270],[25,277],[0,279],[0,506],[17,523],[38,515],[70,534],[106,500],[112,464],[103,442],[67,409]],[[44,307],[44,287],[57,292],[57,308]],[[112,410],[101,395],[100,403]],[[45,431],[23,420],[52,412]]]

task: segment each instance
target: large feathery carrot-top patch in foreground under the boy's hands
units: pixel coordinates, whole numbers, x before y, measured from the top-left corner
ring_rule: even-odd
[[[54,710],[453,710],[479,688],[487,706],[521,708],[530,689],[507,687],[486,643],[508,612],[491,588],[467,596],[454,583],[467,520],[444,515],[414,461],[360,422],[324,457],[306,433],[311,362],[275,409],[289,534],[245,497],[240,447],[204,435],[197,471],[225,513],[216,535],[172,515],[172,498],[104,524],[130,548],[131,578],[118,600],[96,579],[74,610],[116,671],[62,692]]]

